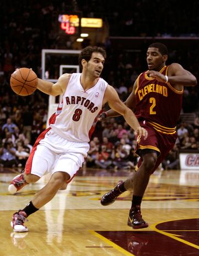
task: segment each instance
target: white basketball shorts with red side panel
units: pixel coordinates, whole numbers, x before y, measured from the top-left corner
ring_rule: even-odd
[[[36,139],[25,165],[25,174],[41,177],[46,172],[64,171],[71,177],[68,183],[82,167],[88,150],[87,142],[69,142],[48,128]]]

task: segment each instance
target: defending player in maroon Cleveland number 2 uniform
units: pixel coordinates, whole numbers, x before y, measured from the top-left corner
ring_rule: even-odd
[[[141,215],[140,205],[149,177],[174,147],[177,133],[184,86],[195,86],[196,77],[180,64],[165,65],[168,50],[164,44],[153,43],[146,53],[148,71],[140,74],[134,83],[132,93],[124,102],[134,110],[142,127],[148,131],[148,138],[137,140],[136,153],[140,156],[136,173],[127,180],[119,181],[111,191],[101,198],[102,205],[110,205],[126,190],[133,189],[132,206],[128,225],[133,228],[148,227]],[[101,119],[119,116],[112,109],[101,114]]]

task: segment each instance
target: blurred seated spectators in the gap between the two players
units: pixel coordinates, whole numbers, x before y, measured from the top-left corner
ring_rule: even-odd
[[[88,151],[87,166],[108,169],[132,169],[137,164],[136,140],[132,128],[115,118],[100,123],[102,134],[94,134]]]

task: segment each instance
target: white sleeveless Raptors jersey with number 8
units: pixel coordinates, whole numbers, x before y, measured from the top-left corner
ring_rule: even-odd
[[[98,79],[86,92],[80,83],[81,73],[71,75],[66,91],[49,120],[50,127],[60,137],[71,142],[89,142],[97,118],[102,111],[107,82]]]

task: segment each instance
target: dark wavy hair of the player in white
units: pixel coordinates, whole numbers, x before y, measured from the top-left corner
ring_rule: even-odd
[[[82,70],[81,61],[84,59],[87,62],[90,61],[92,53],[101,53],[103,58],[106,59],[106,51],[98,46],[87,46],[84,48],[78,58],[78,64],[80,65],[80,69]]]

